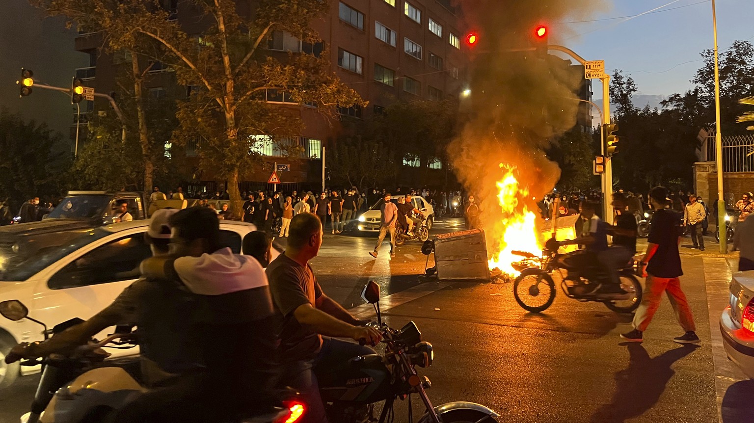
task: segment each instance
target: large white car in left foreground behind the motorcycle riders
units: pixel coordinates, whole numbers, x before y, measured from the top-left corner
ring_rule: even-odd
[[[0,302],[20,300],[29,317],[49,328],[74,317],[92,317],[139,277],[139,263],[152,255],[144,239],[148,225],[149,220],[134,220],[93,228],[87,222],[44,219],[0,228]],[[244,235],[256,228],[221,220],[220,229],[222,244],[240,253]],[[19,342],[42,339],[37,323],[0,316],[0,388],[19,374],[38,371],[38,366],[18,362],[6,365],[5,354]],[[119,351],[134,353],[109,352]]]

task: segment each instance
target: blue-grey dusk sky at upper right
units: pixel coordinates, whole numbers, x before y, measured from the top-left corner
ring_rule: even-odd
[[[596,2],[599,3],[599,2]],[[606,6],[588,23],[550,23],[550,44],[571,48],[586,60],[605,60],[605,72],[621,69],[639,88],[638,94],[669,96],[691,89],[689,81],[703,62],[700,52],[711,49],[713,20],[711,0],[604,0]],[[665,8],[661,6],[667,5]],[[659,13],[629,17],[660,8]],[[667,10],[673,9],[675,10]],[[754,0],[716,0],[720,51],[732,41],[754,42]],[[555,34],[567,34],[556,37]],[[564,39],[565,38],[565,39]],[[602,98],[595,81],[594,97]]]

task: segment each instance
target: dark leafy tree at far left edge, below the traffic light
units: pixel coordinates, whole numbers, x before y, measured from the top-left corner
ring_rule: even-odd
[[[0,109],[0,201],[8,198],[17,207],[35,196],[52,200],[63,194],[70,159],[55,152],[61,139],[44,124]]]

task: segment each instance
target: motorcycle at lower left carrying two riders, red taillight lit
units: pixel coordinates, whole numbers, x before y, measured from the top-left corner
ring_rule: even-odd
[[[29,317],[29,309],[18,300],[0,302],[0,314],[8,320],[24,318],[44,327],[44,339],[78,323],[71,319],[48,330],[39,320]],[[94,423],[104,421],[116,409],[149,388],[139,382],[139,357],[108,360],[107,348],[136,346],[131,326],[116,326],[116,333],[101,341],[92,340],[72,354],[50,354],[34,360],[22,360],[21,366],[42,366],[39,385],[31,411],[21,416],[21,423]],[[265,409],[262,414],[239,418],[228,423],[294,423],[300,421],[305,406],[290,391],[280,395],[281,403]]]

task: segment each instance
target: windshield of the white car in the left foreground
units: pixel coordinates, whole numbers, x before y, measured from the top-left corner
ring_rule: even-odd
[[[0,232],[0,280],[27,280],[69,253],[110,233],[102,228],[21,236]]]

